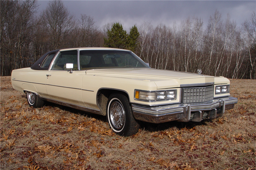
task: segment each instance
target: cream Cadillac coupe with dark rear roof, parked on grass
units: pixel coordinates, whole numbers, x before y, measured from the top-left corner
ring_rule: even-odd
[[[12,86],[29,106],[50,101],[106,116],[116,134],[136,134],[138,121],[215,119],[238,99],[224,77],[152,69],[132,51],[69,48],[12,71]]]

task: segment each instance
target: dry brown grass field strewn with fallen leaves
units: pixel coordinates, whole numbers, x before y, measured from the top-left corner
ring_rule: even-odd
[[[105,117],[57,104],[34,109],[1,77],[2,169],[256,170],[256,81],[230,80],[239,99],[223,117],[143,123],[115,135]]]

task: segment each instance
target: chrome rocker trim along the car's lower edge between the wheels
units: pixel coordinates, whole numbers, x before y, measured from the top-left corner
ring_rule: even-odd
[[[76,104],[71,104],[71,103],[62,102],[62,101],[59,101],[59,100],[53,100],[53,99],[44,98],[44,97],[40,97],[40,98],[43,99],[43,100],[52,102],[52,103],[61,104],[63,106],[68,106],[68,107],[71,107],[71,108],[74,108],[74,109],[79,109],[79,110],[82,110],[82,111],[87,111],[87,112],[103,115],[101,113],[101,111],[97,110],[97,109],[82,107],[82,106],[79,106],[79,105],[76,105]]]

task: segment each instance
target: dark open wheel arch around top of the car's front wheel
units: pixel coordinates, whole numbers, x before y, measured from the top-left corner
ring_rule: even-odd
[[[127,99],[130,100],[130,96],[125,90],[121,89],[114,89],[114,88],[100,88],[97,91],[97,106],[100,108],[102,114],[105,116],[106,113],[106,107],[108,104],[108,98],[111,94],[123,94],[127,97]]]

